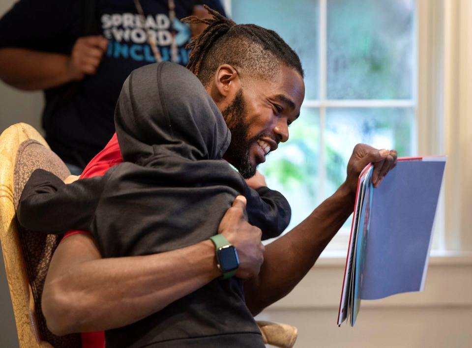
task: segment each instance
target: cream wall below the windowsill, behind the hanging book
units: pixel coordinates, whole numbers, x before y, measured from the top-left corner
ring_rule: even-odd
[[[362,301],[354,327],[336,325],[345,259],[323,259],[258,318],[298,328],[298,348],[472,347],[472,256],[435,257],[424,292]]]

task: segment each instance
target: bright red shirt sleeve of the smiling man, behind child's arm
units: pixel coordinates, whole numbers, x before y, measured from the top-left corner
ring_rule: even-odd
[[[121,162],[123,162],[123,159],[121,158],[121,152],[119,151],[117,133],[115,133],[105,148],[101,150],[95,157],[93,157],[87,167],[85,167],[84,171],[80,175],[80,179],[104,175],[110,168]],[[77,233],[89,232],[69,231],[64,235],[62,240]]]

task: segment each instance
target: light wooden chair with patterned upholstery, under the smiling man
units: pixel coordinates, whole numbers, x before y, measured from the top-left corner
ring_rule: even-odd
[[[70,172],[30,125],[17,123],[0,136],[0,241],[5,262],[20,347],[81,347],[80,334],[52,334],[41,312],[41,294],[47,269],[60,238],[24,230],[15,208],[31,173],[42,168],[64,179]],[[296,328],[260,321],[265,343],[291,348]]]

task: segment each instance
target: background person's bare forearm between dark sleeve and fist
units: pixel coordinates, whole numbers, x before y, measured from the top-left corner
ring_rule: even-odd
[[[69,56],[58,53],[0,49],[0,79],[23,90],[47,89],[70,82],[68,64]]]

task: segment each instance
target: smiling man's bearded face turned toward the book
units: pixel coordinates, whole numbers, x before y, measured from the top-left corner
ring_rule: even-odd
[[[246,82],[222,111],[232,135],[224,158],[244,178],[256,174],[268,153],[289,139],[288,126],[299,116],[304,96],[303,78],[282,65],[274,78]]]

